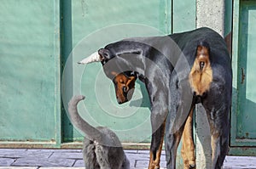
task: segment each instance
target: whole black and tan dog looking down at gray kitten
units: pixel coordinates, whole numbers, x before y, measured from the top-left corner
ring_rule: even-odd
[[[166,132],[167,168],[175,168],[183,136],[184,168],[195,167],[192,117],[195,104],[207,112],[212,169],[221,168],[229,144],[232,70],[224,39],[200,28],[166,37],[138,37],[108,44],[79,64],[101,61],[119,104],[131,99],[135,81],[145,83],[151,104],[152,140],[148,168],[160,168]]]

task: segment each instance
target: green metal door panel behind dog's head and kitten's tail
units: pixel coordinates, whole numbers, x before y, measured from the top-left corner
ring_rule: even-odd
[[[66,62],[62,83],[64,107],[73,94],[82,93],[86,99],[80,113],[92,125],[112,128],[125,143],[148,142],[151,135],[150,110],[143,84],[137,83],[131,102],[119,105],[112,82],[103,75],[100,63],[86,66],[71,64],[109,42],[125,37],[171,33],[170,1],[89,0],[63,1],[62,5],[62,47]],[[73,73],[66,77],[68,72]],[[65,79],[73,79],[73,83]],[[65,113],[62,120],[64,142],[83,139],[68,122]]]

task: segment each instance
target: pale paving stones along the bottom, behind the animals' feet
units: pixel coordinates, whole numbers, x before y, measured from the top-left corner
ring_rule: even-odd
[[[131,169],[147,168],[148,150],[125,150]],[[161,166],[166,167],[163,151]],[[84,169],[81,149],[0,149],[0,169]],[[256,157],[227,156],[224,169],[256,169]]]

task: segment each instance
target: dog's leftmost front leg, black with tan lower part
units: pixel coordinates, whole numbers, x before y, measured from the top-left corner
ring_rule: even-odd
[[[150,161],[149,161],[148,169],[160,168],[160,155],[161,155],[163,140],[165,137],[167,110],[164,110],[163,112],[164,113],[157,113],[157,114],[154,110],[151,112],[151,125],[152,125],[153,134],[151,138]]]

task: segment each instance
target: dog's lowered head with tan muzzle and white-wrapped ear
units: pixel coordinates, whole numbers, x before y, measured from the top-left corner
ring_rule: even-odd
[[[124,104],[131,99],[134,93],[137,74],[129,70],[124,59],[118,55],[108,48],[101,48],[95,54],[80,61],[79,64],[101,61],[105,75],[113,81],[117,102]]]

